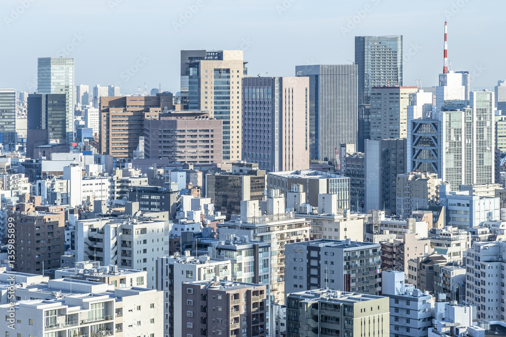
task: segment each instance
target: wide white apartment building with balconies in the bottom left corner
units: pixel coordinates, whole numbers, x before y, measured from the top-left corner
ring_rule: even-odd
[[[161,336],[163,293],[146,288],[55,279],[16,287],[17,301],[0,305],[6,336]],[[13,329],[9,326],[13,324]]]

